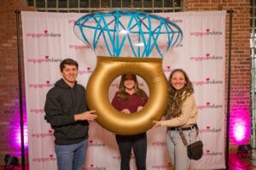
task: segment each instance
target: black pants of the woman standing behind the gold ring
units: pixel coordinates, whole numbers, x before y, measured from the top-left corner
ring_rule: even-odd
[[[130,170],[131,149],[135,154],[137,170],[146,170],[147,134],[116,134],[115,137],[121,155],[121,170]]]

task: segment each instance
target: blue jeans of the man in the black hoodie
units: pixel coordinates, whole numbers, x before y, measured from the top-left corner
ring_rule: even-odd
[[[87,139],[84,139],[79,144],[55,144],[58,170],[82,170],[84,166],[87,144]]]

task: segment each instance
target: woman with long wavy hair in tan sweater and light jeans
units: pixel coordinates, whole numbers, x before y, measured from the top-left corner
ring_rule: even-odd
[[[194,88],[187,73],[182,69],[172,71],[169,83],[169,103],[165,120],[154,121],[154,127],[167,127],[166,147],[172,167],[175,170],[187,170],[190,160],[179,129],[182,130],[188,144],[195,142],[198,127]]]

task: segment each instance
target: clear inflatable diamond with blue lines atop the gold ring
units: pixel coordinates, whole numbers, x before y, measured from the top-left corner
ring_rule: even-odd
[[[111,57],[162,58],[183,38],[171,20],[129,10],[85,14],[75,22],[74,32],[96,56]]]

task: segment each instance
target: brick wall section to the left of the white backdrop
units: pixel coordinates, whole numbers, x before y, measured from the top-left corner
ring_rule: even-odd
[[[0,165],[6,154],[21,157],[20,145],[20,94],[17,52],[16,13],[23,8],[21,0],[3,0],[0,5]],[[19,14],[20,17],[20,14]],[[21,31],[21,23],[20,23]],[[21,33],[21,32],[20,32]],[[21,35],[20,35],[21,37]],[[22,40],[20,39],[20,43]],[[22,50],[22,47],[20,47]],[[22,54],[22,51],[20,52]],[[22,57],[22,56],[21,56]],[[22,58],[20,59],[23,60]],[[23,72],[23,71],[22,71]],[[23,86],[24,87],[24,86]],[[22,90],[22,94],[25,92]],[[25,98],[22,99],[25,105]],[[24,114],[26,122],[26,114]],[[27,156],[27,148],[25,150]],[[26,158],[27,161],[27,158]]]

